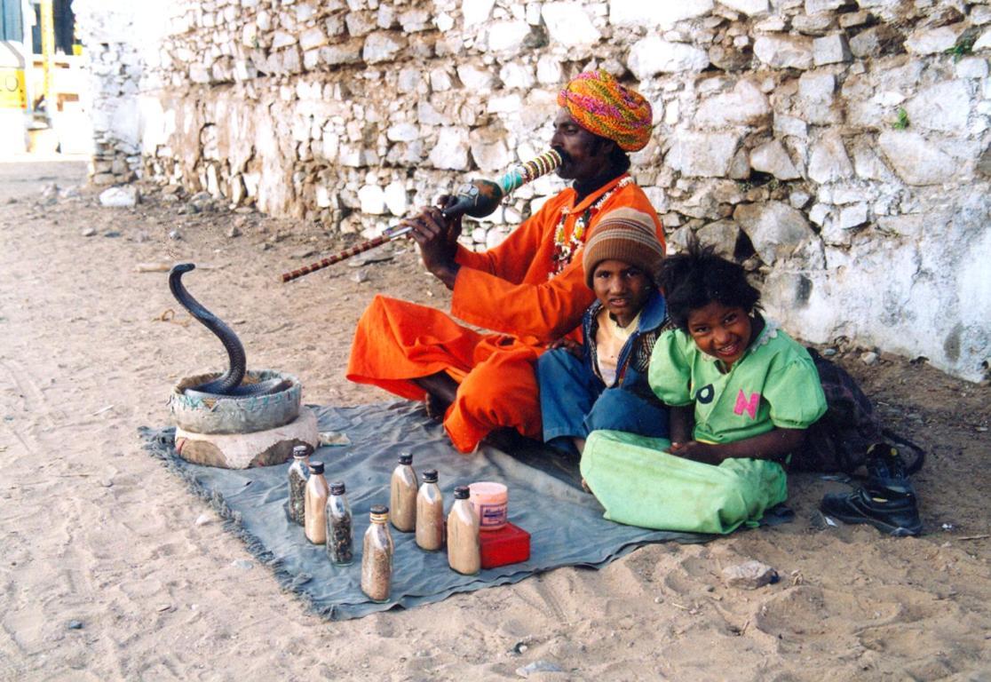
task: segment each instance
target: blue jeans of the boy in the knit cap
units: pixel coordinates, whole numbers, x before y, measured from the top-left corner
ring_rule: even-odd
[[[537,361],[544,442],[577,454],[572,438],[598,429],[668,437],[668,408],[628,388],[606,388],[584,359],[563,348]],[[646,393],[650,389],[642,387]]]

